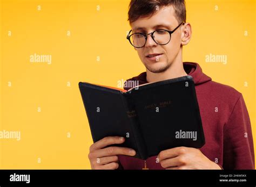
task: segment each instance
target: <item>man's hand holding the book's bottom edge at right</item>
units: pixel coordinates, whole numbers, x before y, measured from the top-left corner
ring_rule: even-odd
[[[158,154],[159,163],[165,169],[221,169],[199,149],[176,147]]]

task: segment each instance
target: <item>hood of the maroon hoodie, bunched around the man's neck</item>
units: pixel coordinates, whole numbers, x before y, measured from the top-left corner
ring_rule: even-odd
[[[211,77],[208,77],[203,73],[203,70],[201,69],[199,64],[196,62],[183,62],[183,67],[186,73],[193,77],[195,85],[203,84],[212,80]],[[127,81],[139,81],[139,85],[145,84],[145,83],[148,83],[146,80],[146,76],[147,76],[146,72],[143,72],[136,77],[130,78]],[[129,90],[129,89],[130,88],[125,88],[125,90]]]

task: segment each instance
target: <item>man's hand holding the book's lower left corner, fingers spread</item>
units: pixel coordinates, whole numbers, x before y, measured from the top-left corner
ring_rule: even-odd
[[[124,137],[108,136],[93,143],[88,155],[92,169],[117,169],[117,155],[136,155],[135,150],[125,147],[107,147],[112,144],[120,144],[125,141]]]

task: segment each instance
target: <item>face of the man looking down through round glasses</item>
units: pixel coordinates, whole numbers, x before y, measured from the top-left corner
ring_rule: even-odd
[[[160,8],[150,18],[139,18],[131,23],[132,33],[151,33],[158,29],[173,31],[180,23],[174,16],[173,6]],[[152,73],[162,73],[167,70],[176,59],[181,50],[181,26],[171,35],[171,41],[167,45],[158,45],[147,35],[146,45],[143,48],[135,48],[144,66]],[[149,57],[149,54],[159,54]]]

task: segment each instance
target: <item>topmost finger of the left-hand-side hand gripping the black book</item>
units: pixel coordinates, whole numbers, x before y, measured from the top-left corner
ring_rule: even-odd
[[[120,136],[107,136],[95,143],[90,147],[91,150],[97,150],[97,149],[102,149],[106,146],[112,145],[112,144],[120,144],[125,141],[124,137]]]

